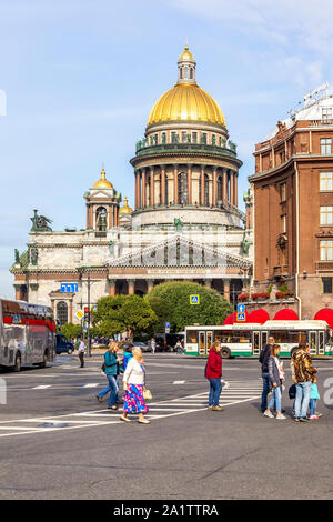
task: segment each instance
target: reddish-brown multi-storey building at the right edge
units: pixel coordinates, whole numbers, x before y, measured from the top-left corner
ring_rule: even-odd
[[[271,318],[281,307],[300,319],[332,307],[333,96],[317,96],[255,145],[252,291],[272,290]]]

